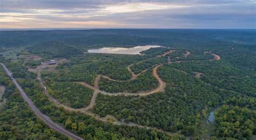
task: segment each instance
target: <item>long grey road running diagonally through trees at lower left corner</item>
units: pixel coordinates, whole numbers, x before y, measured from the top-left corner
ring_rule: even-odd
[[[47,125],[49,125],[50,128],[55,129],[56,131],[60,132],[61,134],[65,135],[67,137],[70,137],[72,139],[83,139],[83,138],[80,138],[80,137],[72,134],[71,132],[65,130],[60,125],[58,125],[55,122],[51,121],[48,116],[42,114],[41,111],[39,111],[39,109],[36,108],[35,104],[33,104],[33,102],[26,95],[26,93],[24,92],[22,87],[19,86],[17,81],[12,77],[10,71],[5,67],[5,65],[2,64],[2,63],[0,63],[0,64],[4,67],[5,72],[8,74],[8,76],[10,76],[12,82],[14,83],[14,85],[17,87],[17,89],[21,93],[23,99],[29,104],[29,107],[33,110],[33,112],[36,114],[37,117],[41,118],[41,120],[44,121],[44,123],[46,123]]]

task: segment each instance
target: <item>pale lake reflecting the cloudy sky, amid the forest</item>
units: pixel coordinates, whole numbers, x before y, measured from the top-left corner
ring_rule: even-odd
[[[125,47],[103,47],[98,49],[88,50],[89,53],[112,53],[112,54],[140,54],[139,52],[145,51],[152,47],[161,47],[157,45],[146,45],[146,46],[137,46],[131,48]]]

